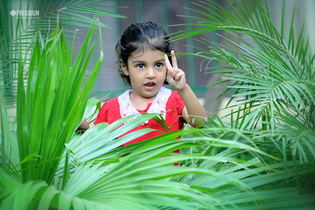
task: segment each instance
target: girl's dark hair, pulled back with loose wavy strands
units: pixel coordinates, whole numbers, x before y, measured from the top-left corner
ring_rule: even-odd
[[[133,53],[144,53],[148,49],[160,50],[166,54],[171,53],[173,46],[166,35],[167,32],[163,26],[152,22],[132,23],[123,31],[116,45],[116,63],[119,75],[127,86],[131,87],[130,78],[123,73],[119,62],[123,61],[128,66],[127,60]],[[171,57],[169,57],[169,62],[172,64]],[[169,84],[166,78],[164,84]]]

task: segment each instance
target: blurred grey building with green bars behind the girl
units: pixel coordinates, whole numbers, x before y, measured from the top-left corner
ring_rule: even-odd
[[[229,5],[226,1],[216,0],[215,3],[220,4],[223,8],[229,9]],[[233,5],[233,1],[229,1]],[[241,2],[241,1],[237,1]],[[246,2],[246,0],[245,0]],[[264,4],[265,1],[260,1],[261,4]],[[128,8],[105,8],[108,12],[113,12],[117,14],[122,14],[126,16],[126,18],[114,18],[114,17],[106,17],[100,19],[100,22],[106,24],[110,28],[102,29],[102,37],[103,37],[103,51],[104,51],[104,60],[103,65],[98,77],[98,80],[95,84],[91,97],[96,97],[98,99],[102,98],[106,94],[110,94],[109,98],[111,99],[117,97],[122,94],[127,88],[125,87],[123,80],[118,76],[117,65],[116,65],[116,53],[115,46],[117,41],[120,39],[120,36],[123,30],[128,27],[131,23],[134,22],[157,22],[162,24],[163,26],[168,26],[169,33],[173,33],[176,31],[181,31],[188,29],[186,26],[169,26],[169,25],[179,25],[184,23],[197,23],[192,22],[194,20],[190,18],[182,17],[181,15],[195,16],[201,17],[195,11],[186,9],[198,9],[201,10],[200,7],[196,6],[194,3],[198,3],[198,1],[191,0],[112,0],[112,1],[97,1],[92,2],[91,4],[100,5],[100,6],[120,6],[120,7],[128,7]],[[250,4],[250,2],[248,1]],[[269,10],[272,15],[273,22],[276,26],[280,26],[281,24],[281,11],[283,7],[283,1],[274,1],[267,0],[269,5]],[[301,30],[301,26],[303,21],[305,20],[305,29],[304,33],[308,34],[310,38],[311,46],[315,46],[315,35],[314,35],[314,21],[315,21],[315,1],[313,0],[286,0],[285,1],[285,12],[286,19],[288,20],[285,26],[286,31],[289,31],[291,27],[291,19],[293,14],[293,8],[295,9],[295,21],[294,28],[296,34],[299,34],[298,31]],[[102,8],[104,9],[104,8]],[[205,9],[201,10],[202,12],[211,15],[211,13]],[[62,15],[62,14],[61,14]],[[90,17],[93,18],[94,14],[90,14]],[[88,28],[86,27],[75,27],[75,29],[79,29],[81,35],[78,35],[80,38],[76,39],[76,47],[77,52],[80,47],[80,39],[83,40],[84,36]],[[212,43],[224,43],[225,40],[222,39],[219,35],[228,36],[228,34],[224,34],[224,31],[217,32],[209,32],[203,35],[198,35],[197,37],[187,38],[184,40],[180,40],[177,42],[177,45],[180,48],[180,52],[189,52],[189,53],[197,53],[198,51],[194,48],[187,47],[187,45],[194,45],[197,47],[205,48],[200,42],[195,39],[206,39]],[[233,38],[233,37],[229,37]],[[244,37],[246,39],[246,37]],[[296,37],[297,39],[297,37]],[[250,41],[250,40],[247,40]],[[98,46],[98,45],[96,45]],[[95,52],[95,56],[92,58],[90,62],[89,68],[93,68],[93,63],[96,63],[98,58],[98,52]],[[94,60],[93,60],[94,59]],[[209,113],[216,112],[219,107],[224,106],[221,103],[221,99],[215,101],[215,98],[218,94],[222,92],[222,89],[215,88],[215,86],[207,87],[207,85],[220,81],[220,74],[207,74],[211,69],[206,69],[206,67],[214,67],[220,66],[222,64],[216,63],[215,61],[205,60],[203,61],[200,58],[192,57],[192,56],[181,56],[178,58],[180,62],[180,68],[185,71],[187,77],[187,83],[190,85],[194,93],[204,102],[204,107],[206,111]],[[106,99],[106,100],[107,100]],[[223,99],[223,98],[222,98]],[[221,105],[220,105],[221,104]]]

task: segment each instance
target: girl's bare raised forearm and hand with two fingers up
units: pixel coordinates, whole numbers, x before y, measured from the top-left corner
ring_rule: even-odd
[[[169,62],[167,55],[164,55],[164,60],[167,67],[167,81],[169,85],[174,88],[181,96],[185,103],[185,107],[183,109],[183,119],[193,127],[200,127],[199,123],[192,123],[194,116],[207,117],[206,111],[203,109],[196,95],[192,92],[192,89],[186,83],[185,72],[177,67],[177,61],[175,57],[174,50],[171,51],[172,55],[172,65]],[[198,118],[197,119],[203,119]]]

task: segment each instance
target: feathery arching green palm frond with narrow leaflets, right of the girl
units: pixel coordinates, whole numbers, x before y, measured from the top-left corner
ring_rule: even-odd
[[[226,68],[225,71],[211,73],[226,74],[216,85],[229,81],[232,83],[218,96],[233,93],[226,108],[238,110],[238,106],[241,107],[242,114],[232,111],[226,116],[230,118],[232,127],[235,123],[233,114],[238,114],[236,120],[240,121],[248,111],[246,119],[249,123],[246,126],[260,129],[265,136],[286,142],[292,148],[293,156],[298,154],[300,162],[309,162],[315,158],[315,54],[312,53],[309,40],[304,38],[304,24],[296,36],[292,27],[293,13],[291,28],[286,34],[284,5],[282,24],[278,30],[272,22],[268,5],[264,8],[259,2],[252,1],[250,4],[245,1],[240,4],[227,3],[231,13],[214,2],[194,3],[200,11],[190,10],[201,14],[203,18],[188,17],[199,23],[188,24],[195,28],[176,32],[171,39],[176,41],[214,30],[224,30],[234,37],[233,40],[236,41],[221,36],[226,45],[211,43],[206,39],[197,40],[205,47],[190,46],[200,52],[183,55],[226,63],[226,66],[207,69]],[[254,44],[246,41],[248,39],[245,37],[250,38]],[[236,97],[243,99],[238,101],[238,105],[230,105]]]

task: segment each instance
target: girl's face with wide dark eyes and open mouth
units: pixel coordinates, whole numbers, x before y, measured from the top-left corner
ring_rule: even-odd
[[[125,75],[130,77],[133,97],[154,98],[161,89],[165,76],[165,53],[160,50],[146,50],[134,53],[128,58],[128,66],[120,63]]]

